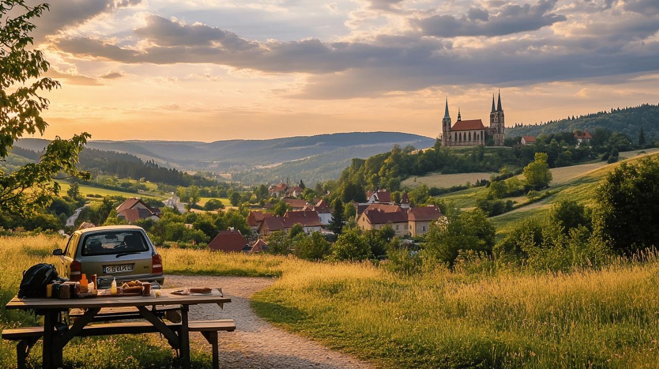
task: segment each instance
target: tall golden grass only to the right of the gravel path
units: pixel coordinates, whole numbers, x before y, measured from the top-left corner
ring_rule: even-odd
[[[656,367],[658,272],[656,261],[476,279],[324,265],[285,271],[253,306],[383,367]]]

